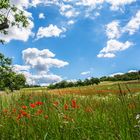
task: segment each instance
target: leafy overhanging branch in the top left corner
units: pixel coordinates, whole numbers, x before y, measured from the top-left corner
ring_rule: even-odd
[[[9,15],[13,16],[14,20],[10,20]],[[7,29],[11,26],[27,27],[28,25],[24,11],[11,5],[9,0],[0,0],[0,33],[8,34]],[[5,40],[0,39],[0,42],[4,43]]]

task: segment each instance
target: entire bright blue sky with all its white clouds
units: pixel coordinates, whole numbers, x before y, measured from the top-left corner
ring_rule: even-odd
[[[30,84],[140,69],[140,0],[11,0],[28,28],[0,34],[0,52]]]

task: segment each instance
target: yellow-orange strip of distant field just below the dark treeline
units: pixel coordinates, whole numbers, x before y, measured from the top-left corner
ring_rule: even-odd
[[[119,94],[120,89],[125,93],[137,93],[140,92],[140,81],[127,81],[127,82],[102,82],[99,85],[83,86],[83,87],[72,87],[64,89],[48,90],[45,87],[41,88],[29,88],[23,89],[23,92],[48,92],[50,94],[78,94],[78,95],[108,95],[108,94]]]

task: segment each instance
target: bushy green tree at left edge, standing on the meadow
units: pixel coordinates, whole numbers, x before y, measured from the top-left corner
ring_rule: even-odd
[[[26,79],[22,74],[16,74],[11,68],[12,60],[0,53],[0,90],[6,88],[13,91],[25,86]]]

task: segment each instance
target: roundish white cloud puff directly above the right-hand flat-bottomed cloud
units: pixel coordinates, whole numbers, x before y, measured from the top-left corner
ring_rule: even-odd
[[[106,25],[106,35],[109,39],[119,38],[121,35],[119,21],[112,21]]]

